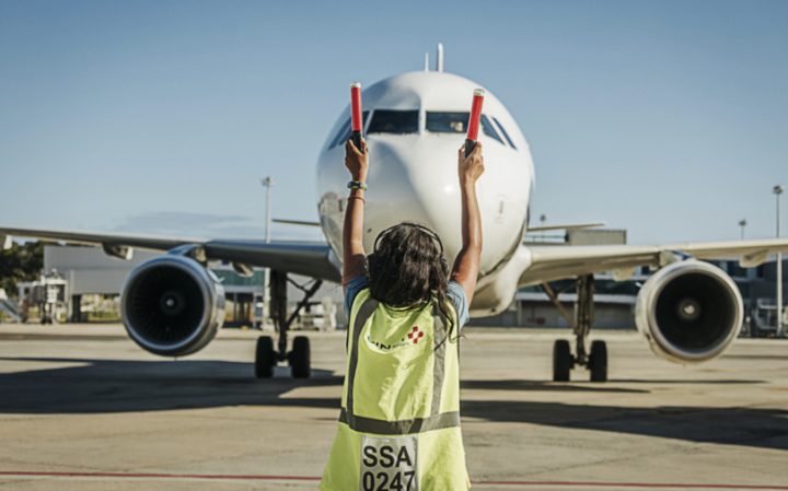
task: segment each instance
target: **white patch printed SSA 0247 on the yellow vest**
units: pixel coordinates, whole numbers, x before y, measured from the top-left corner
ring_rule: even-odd
[[[361,439],[360,491],[419,491],[415,435]]]

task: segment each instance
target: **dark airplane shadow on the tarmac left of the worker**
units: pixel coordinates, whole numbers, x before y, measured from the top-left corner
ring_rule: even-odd
[[[66,366],[0,374],[0,413],[112,413],[227,406],[338,408],[338,399],[292,402],[298,387],[339,386],[343,377],[312,370],[290,378],[289,367],[257,379],[252,363],[228,361],[116,361],[72,358],[0,358],[0,361],[65,363]]]

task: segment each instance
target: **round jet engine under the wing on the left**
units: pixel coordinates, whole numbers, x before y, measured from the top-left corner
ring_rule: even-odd
[[[126,279],[120,315],[131,339],[151,353],[182,356],[201,350],[224,322],[224,288],[192,258],[164,255]]]

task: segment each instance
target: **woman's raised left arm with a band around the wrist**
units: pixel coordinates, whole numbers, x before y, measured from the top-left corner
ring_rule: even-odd
[[[367,183],[367,142],[361,140],[361,151],[352,140],[345,143],[345,166],[350,171],[350,179]],[[343,227],[343,285],[351,279],[364,273],[363,250],[363,206],[364,190],[350,189],[347,208],[345,209],[345,226]]]

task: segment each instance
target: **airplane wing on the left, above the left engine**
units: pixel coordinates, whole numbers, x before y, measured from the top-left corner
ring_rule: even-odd
[[[199,246],[207,259],[227,260],[235,265],[274,268],[328,281],[340,281],[339,261],[332,248],[323,243],[271,242],[255,239],[208,239],[200,237],[162,237],[157,235],[78,232],[0,226],[0,245],[10,237],[30,237],[67,244],[96,245],[118,258],[130,258],[134,247],[170,250],[179,246]]]

